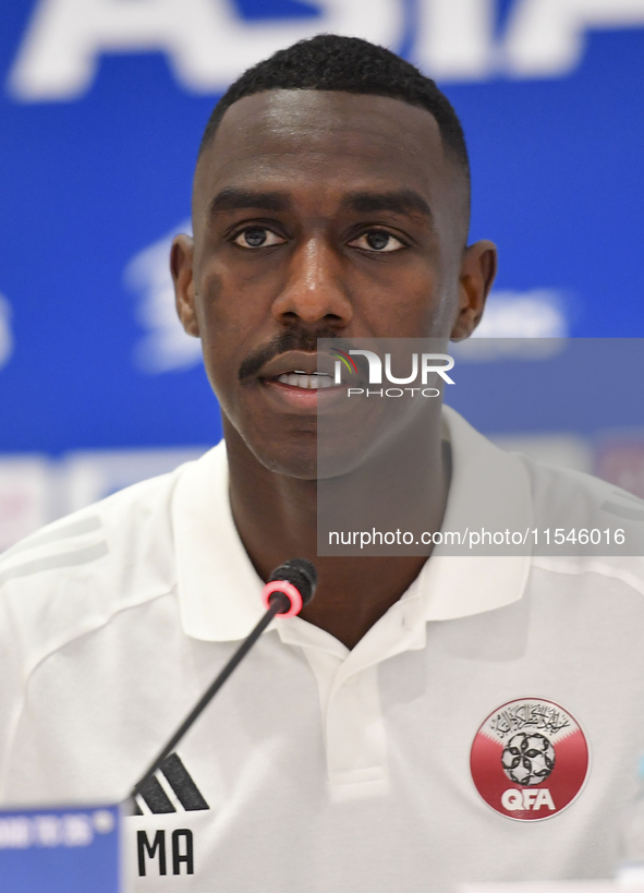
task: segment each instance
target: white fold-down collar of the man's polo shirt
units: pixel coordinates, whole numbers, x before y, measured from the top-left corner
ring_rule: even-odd
[[[532,497],[521,459],[495,447],[448,407],[443,427],[452,479],[442,530],[528,529]],[[223,442],[182,469],[172,523],[184,631],[207,641],[244,638],[263,614],[263,582],[232,518]],[[521,599],[530,564],[530,555],[457,557],[438,546],[403,599],[420,595],[425,620],[493,611]]]

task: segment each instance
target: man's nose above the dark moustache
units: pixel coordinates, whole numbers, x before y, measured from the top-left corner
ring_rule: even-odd
[[[321,238],[311,238],[293,252],[285,287],[275,300],[272,314],[285,325],[323,323],[345,328],[353,307],[343,282],[341,260]]]

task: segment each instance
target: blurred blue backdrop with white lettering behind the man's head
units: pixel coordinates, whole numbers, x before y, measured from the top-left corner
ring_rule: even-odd
[[[472,239],[500,249],[486,334],[644,336],[642,0],[3,0],[1,20],[0,452],[218,439],[167,241],[226,84],[316,31],[389,45],[453,101]]]

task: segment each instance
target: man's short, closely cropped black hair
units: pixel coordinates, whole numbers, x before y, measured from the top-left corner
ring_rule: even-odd
[[[389,96],[427,109],[436,119],[445,146],[470,182],[470,161],[461,122],[434,81],[385,47],[336,34],[319,34],[300,40],[245,71],[215,106],[199,155],[233,102],[270,89],[342,90]]]

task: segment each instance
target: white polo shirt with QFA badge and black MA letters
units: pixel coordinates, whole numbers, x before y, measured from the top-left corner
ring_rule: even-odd
[[[485,493],[524,526],[552,494],[592,524],[644,520],[628,494],[445,419],[446,530]],[[262,615],[260,590],[222,444],[7,552],[2,803],[125,797]],[[643,595],[641,558],[437,550],[352,651],[277,620],[126,819],[134,890],[610,876],[644,753]]]

